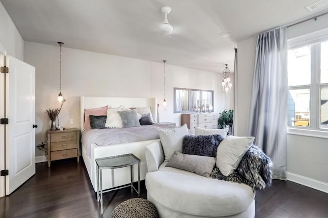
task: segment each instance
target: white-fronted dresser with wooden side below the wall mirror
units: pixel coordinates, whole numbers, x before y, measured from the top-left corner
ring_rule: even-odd
[[[195,127],[217,129],[217,113],[182,113],[181,125],[195,131]]]

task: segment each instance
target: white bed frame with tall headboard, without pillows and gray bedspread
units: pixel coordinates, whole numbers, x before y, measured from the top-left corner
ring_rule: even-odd
[[[91,133],[89,130],[83,131],[82,127],[84,124],[84,111],[90,108],[99,108],[105,105],[109,105],[112,108],[124,105],[126,108],[133,107],[150,107],[153,114],[154,120],[156,120],[156,99],[155,98],[143,98],[143,97],[90,97],[80,96],[80,125],[82,131],[82,146],[81,155],[85,166],[87,168],[90,181],[92,183],[94,191],[97,191],[97,180],[96,180],[96,166],[95,159],[107,156],[115,156],[120,154],[133,153],[135,156],[140,158],[140,180],[145,180],[147,173],[147,164],[145,158],[145,147],[152,142],[159,142],[159,139],[139,141],[139,142],[128,142],[121,144],[97,145],[93,143],[97,137],[93,139],[89,138],[88,134]],[[153,126],[153,125],[151,125]],[[159,125],[163,128],[173,128],[167,125]],[[132,127],[138,128],[138,127]],[[153,127],[154,128],[154,127]],[[125,129],[125,128],[123,128]],[[128,128],[126,128],[128,129]],[[103,130],[106,131],[106,130]],[[91,141],[91,142],[90,142]],[[109,145],[111,144],[111,145]],[[138,180],[137,168],[133,168],[133,181]],[[103,190],[115,188],[118,186],[126,185],[130,183],[130,168],[120,168],[115,170],[103,170]]]

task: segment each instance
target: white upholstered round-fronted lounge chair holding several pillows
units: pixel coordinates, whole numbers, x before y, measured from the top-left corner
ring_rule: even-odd
[[[250,186],[166,167],[160,142],[148,145],[145,155],[147,199],[159,217],[254,218],[255,192]]]

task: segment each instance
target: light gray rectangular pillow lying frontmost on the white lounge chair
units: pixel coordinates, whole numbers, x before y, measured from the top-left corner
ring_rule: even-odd
[[[176,151],[166,166],[210,177],[215,162],[215,157],[182,154]]]

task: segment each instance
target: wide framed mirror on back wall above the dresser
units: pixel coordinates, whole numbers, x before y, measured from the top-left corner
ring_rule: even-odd
[[[174,88],[174,113],[213,112],[214,91]]]

